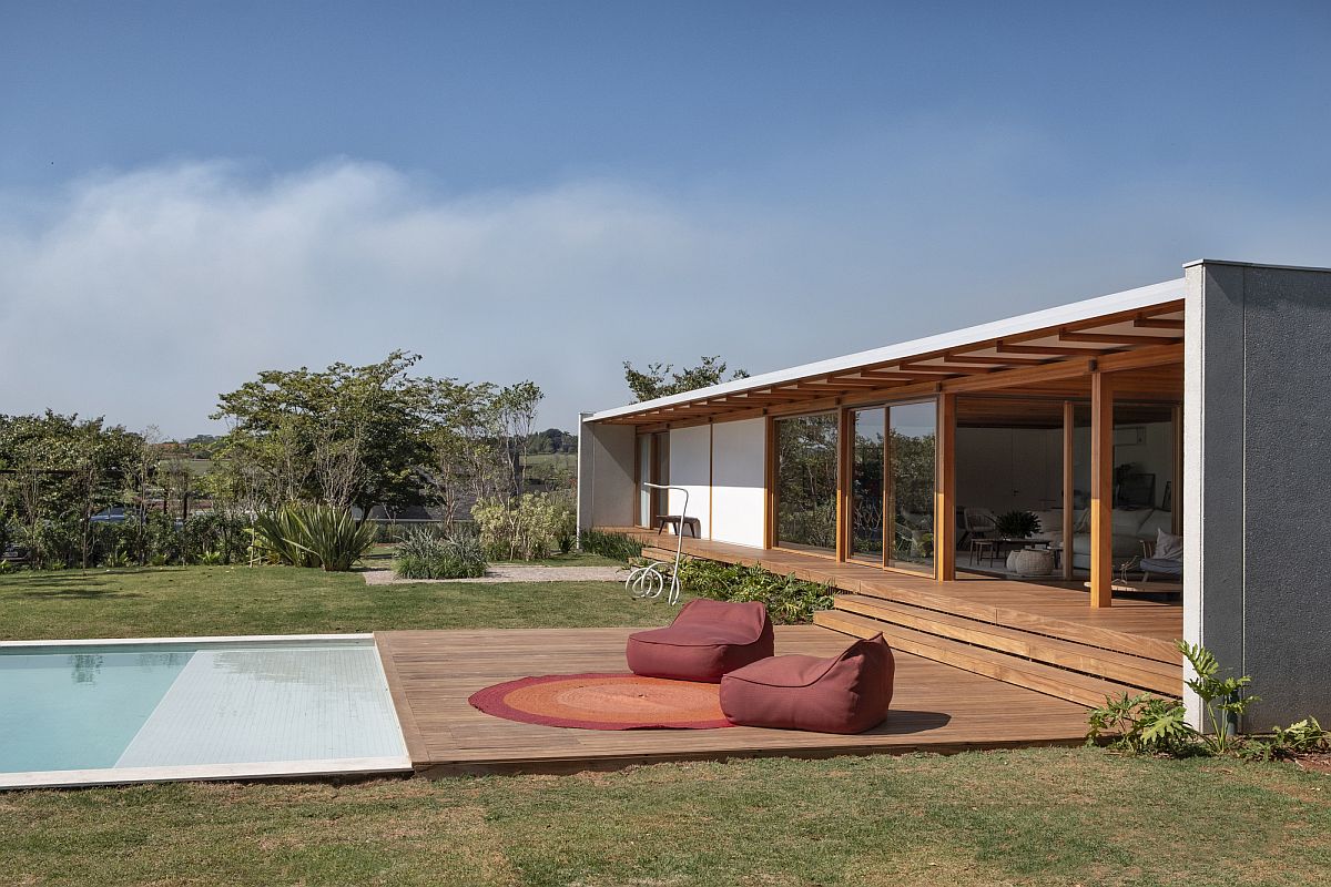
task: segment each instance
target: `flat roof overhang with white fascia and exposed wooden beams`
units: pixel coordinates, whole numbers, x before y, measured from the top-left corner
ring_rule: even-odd
[[[1097,370],[1127,396],[1182,391],[1183,279],[603,410],[587,422],[687,426],[942,392],[1079,396]],[[1166,374],[1159,367],[1171,367]],[[1177,379],[1174,376],[1178,376]]]

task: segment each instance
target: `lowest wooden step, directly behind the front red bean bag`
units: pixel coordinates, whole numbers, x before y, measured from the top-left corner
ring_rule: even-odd
[[[888,644],[902,653],[1085,706],[1103,705],[1106,697],[1117,697],[1127,689],[1122,684],[881,622],[848,610],[820,610],[813,614],[813,622],[855,637],[873,637],[881,632]]]

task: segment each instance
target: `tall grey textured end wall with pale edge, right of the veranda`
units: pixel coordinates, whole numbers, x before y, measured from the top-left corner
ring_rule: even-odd
[[[1331,721],[1331,271],[1187,266],[1185,637]],[[1197,710],[1197,699],[1190,699]]]

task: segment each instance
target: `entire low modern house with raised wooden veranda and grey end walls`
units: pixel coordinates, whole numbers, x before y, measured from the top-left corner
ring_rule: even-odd
[[[1331,719],[1328,339],[1331,270],[1198,261],[584,414],[579,527],[655,539],[683,496],[643,484],[681,487],[687,552],[839,585],[828,628],[1083,703],[1185,696],[1183,637],[1254,677],[1246,727]]]

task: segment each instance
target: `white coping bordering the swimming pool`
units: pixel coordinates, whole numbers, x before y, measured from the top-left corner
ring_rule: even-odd
[[[406,734],[402,730],[402,718],[398,706],[389,688],[387,674],[383,669],[383,657],[378,650],[378,642],[373,633],[358,632],[350,634],[230,634],[212,637],[125,637],[125,638],[81,638],[81,640],[47,640],[47,641],[0,641],[0,652],[5,650],[43,650],[67,649],[77,646],[150,646],[150,645],[193,645],[193,646],[221,646],[234,644],[248,645],[282,645],[293,642],[338,642],[338,641],[369,641],[369,646],[375,650],[375,661],[383,676],[385,692],[389,693],[389,710],[393,713],[393,722],[398,727],[402,738],[402,747],[407,750]],[[73,789],[91,786],[116,786],[146,782],[193,782],[193,781],[245,781],[245,779],[282,779],[282,778],[314,778],[314,777],[373,777],[373,775],[406,775],[411,774],[411,757],[389,755],[377,758],[311,758],[303,761],[262,761],[249,763],[193,763],[161,767],[96,767],[87,770],[31,770],[0,773],[0,791],[23,789]]]

